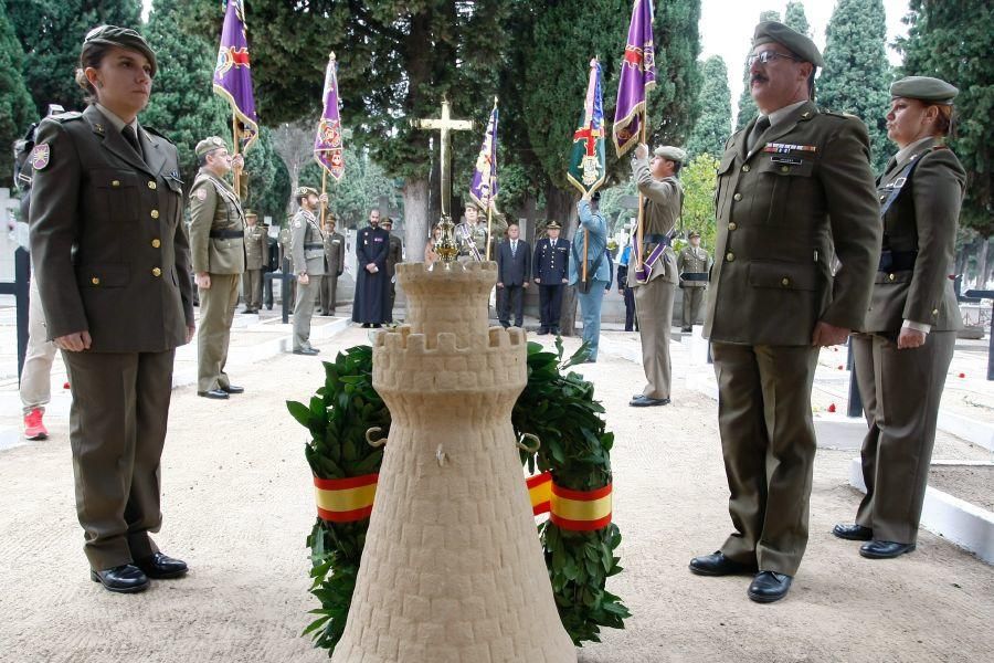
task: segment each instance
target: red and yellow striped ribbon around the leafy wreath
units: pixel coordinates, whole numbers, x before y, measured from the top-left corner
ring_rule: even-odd
[[[318,516],[331,523],[351,523],[372,513],[379,474],[348,478],[314,478]],[[543,472],[525,480],[531,513],[549,514],[560,529],[593,532],[611,524],[612,484],[595,491],[571,491],[552,482]]]

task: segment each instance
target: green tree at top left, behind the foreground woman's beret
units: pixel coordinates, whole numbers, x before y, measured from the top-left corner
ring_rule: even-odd
[[[104,23],[140,29],[139,0],[14,0],[14,31],[24,49],[24,82],[39,115],[49,104],[82,110],[74,80],[83,38]]]

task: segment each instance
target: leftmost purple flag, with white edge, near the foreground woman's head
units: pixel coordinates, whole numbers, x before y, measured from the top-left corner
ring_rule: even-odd
[[[244,4],[244,0],[228,0],[224,27],[221,29],[221,48],[218,50],[218,64],[214,67],[214,92],[228,99],[232,113],[242,125],[239,130],[242,151],[258,138]]]

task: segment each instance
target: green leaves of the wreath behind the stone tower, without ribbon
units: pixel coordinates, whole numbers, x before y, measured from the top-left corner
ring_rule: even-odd
[[[611,482],[611,446],[604,409],[593,400],[593,385],[575,372],[564,373],[588,356],[585,346],[563,362],[561,339],[557,352],[528,344],[528,385],[511,412],[515,435],[537,436],[537,453],[521,452],[530,472],[550,471],[557,485],[593,491]],[[305,406],[287,401],[287,409],[310,432],[305,448],[311,472],[319,478],[345,478],[376,473],[382,449],[366,442],[366,431],[390,429],[390,412],[372,388],[372,348],[357,346],[325,362],[325,386]],[[317,518],[310,548],[313,593],[321,607],[305,629],[317,648],[330,656],[345,631],[369,518],[356,523],[327,523]],[[562,625],[573,643],[600,642],[602,627],[623,629],[628,609],[606,590],[607,578],[618,573],[614,551],[621,532],[612,523],[594,532],[561,529],[546,520],[538,526],[546,566]]]

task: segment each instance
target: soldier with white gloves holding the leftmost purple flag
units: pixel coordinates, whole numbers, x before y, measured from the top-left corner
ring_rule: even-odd
[[[241,170],[242,155],[232,157],[224,140],[204,138],[193,150],[200,171],[190,189],[190,250],[200,292],[200,330],[197,334],[197,394],[226,399],[245,389],[224,372],[231,325],[239,305],[239,282],[245,271],[245,212],[224,179]],[[247,177],[242,173],[241,194]]]

